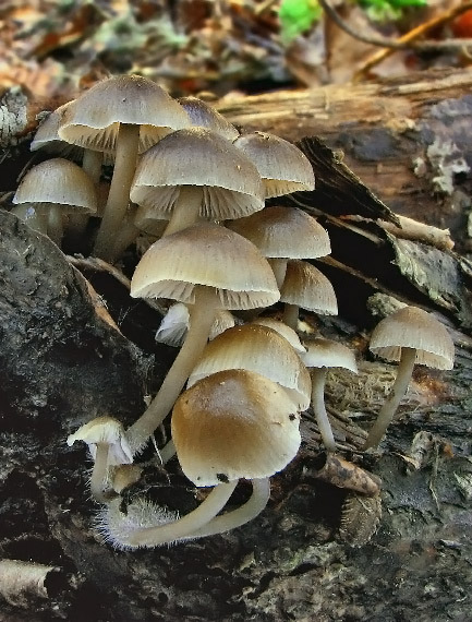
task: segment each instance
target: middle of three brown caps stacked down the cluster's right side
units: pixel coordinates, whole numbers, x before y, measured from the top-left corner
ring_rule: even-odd
[[[315,259],[331,252],[326,229],[298,207],[265,207],[229,227],[251,240],[266,258]]]

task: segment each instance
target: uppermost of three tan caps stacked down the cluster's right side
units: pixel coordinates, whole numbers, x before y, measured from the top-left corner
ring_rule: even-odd
[[[292,143],[265,132],[243,134],[234,145],[256,165],[266,199],[315,188],[308,158]]]

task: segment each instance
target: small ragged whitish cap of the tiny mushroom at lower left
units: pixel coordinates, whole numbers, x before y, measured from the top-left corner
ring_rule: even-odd
[[[109,465],[131,464],[133,462],[133,454],[124,435],[123,424],[113,417],[97,417],[88,421],[78,428],[74,434],[68,436],[69,446],[73,445],[75,441],[87,443],[93,458],[97,453],[98,443],[109,444]]]

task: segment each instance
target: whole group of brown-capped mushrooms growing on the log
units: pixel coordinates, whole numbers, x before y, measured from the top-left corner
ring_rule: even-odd
[[[313,190],[310,162],[282,139],[240,134],[204,101],[174,100],[136,75],[110,77],[58,108],[32,148],[62,157],[25,175],[14,196],[19,217],[58,244],[64,229],[72,241],[95,230],[88,248],[108,262],[141,232],[150,234],[155,241],[135,268],[131,296],[173,301],[158,338],[183,340],[157,395],[128,430],[107,415],[68,439],[86,442],[94,458],[90,489],[104,506],[100,530],[118,548],[137,548],[243,525],[264,510],[269,478],[296,455],[300,412],[310,405],[325,450],[337,451],[325,378],[329,368],[356,372],[346,346],[320,335],[302,343],[296,334],[300,308],[338,312],[331,284],[307,261],[330,253],[328,234],[303,211],[274,204],[277,196]],[[82,158],[82,168],[64,156]],[[101,201],[105,162],[113,172]],[[36,193],[28,190],[34,186]],[[89,226],[97,218],[98,227]],[[263,315],[277,301],[283,322]],[[240,325],[231,311],[247,310],[252,320]],[[366,448],[382,440],[414,362],[432,364],[436,357],[441,369],[451,366],[447,333],[439,352],[420,354],[432,352],[419,328],[421,312],[403,315],[416,339],[397,344],[382,326],[373,335],[373,351],[400,366]],[[406,330],[400,333],[404,337]],[[177,454],[196,487],[211,488],[182,517],[141,497],[124,507],[122,498],[140,478],[132,463],[170,412],[172,438],[162,458]],[[240,479],[251,481],[252,495],[223,512]]]

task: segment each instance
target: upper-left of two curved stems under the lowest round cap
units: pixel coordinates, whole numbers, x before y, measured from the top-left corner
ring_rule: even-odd
[[[129,537],[131,547],[158,547],[204,528],[227,504],[238,480],[216,486],[196,510],[182,518],[157,527],[137,528]]]

